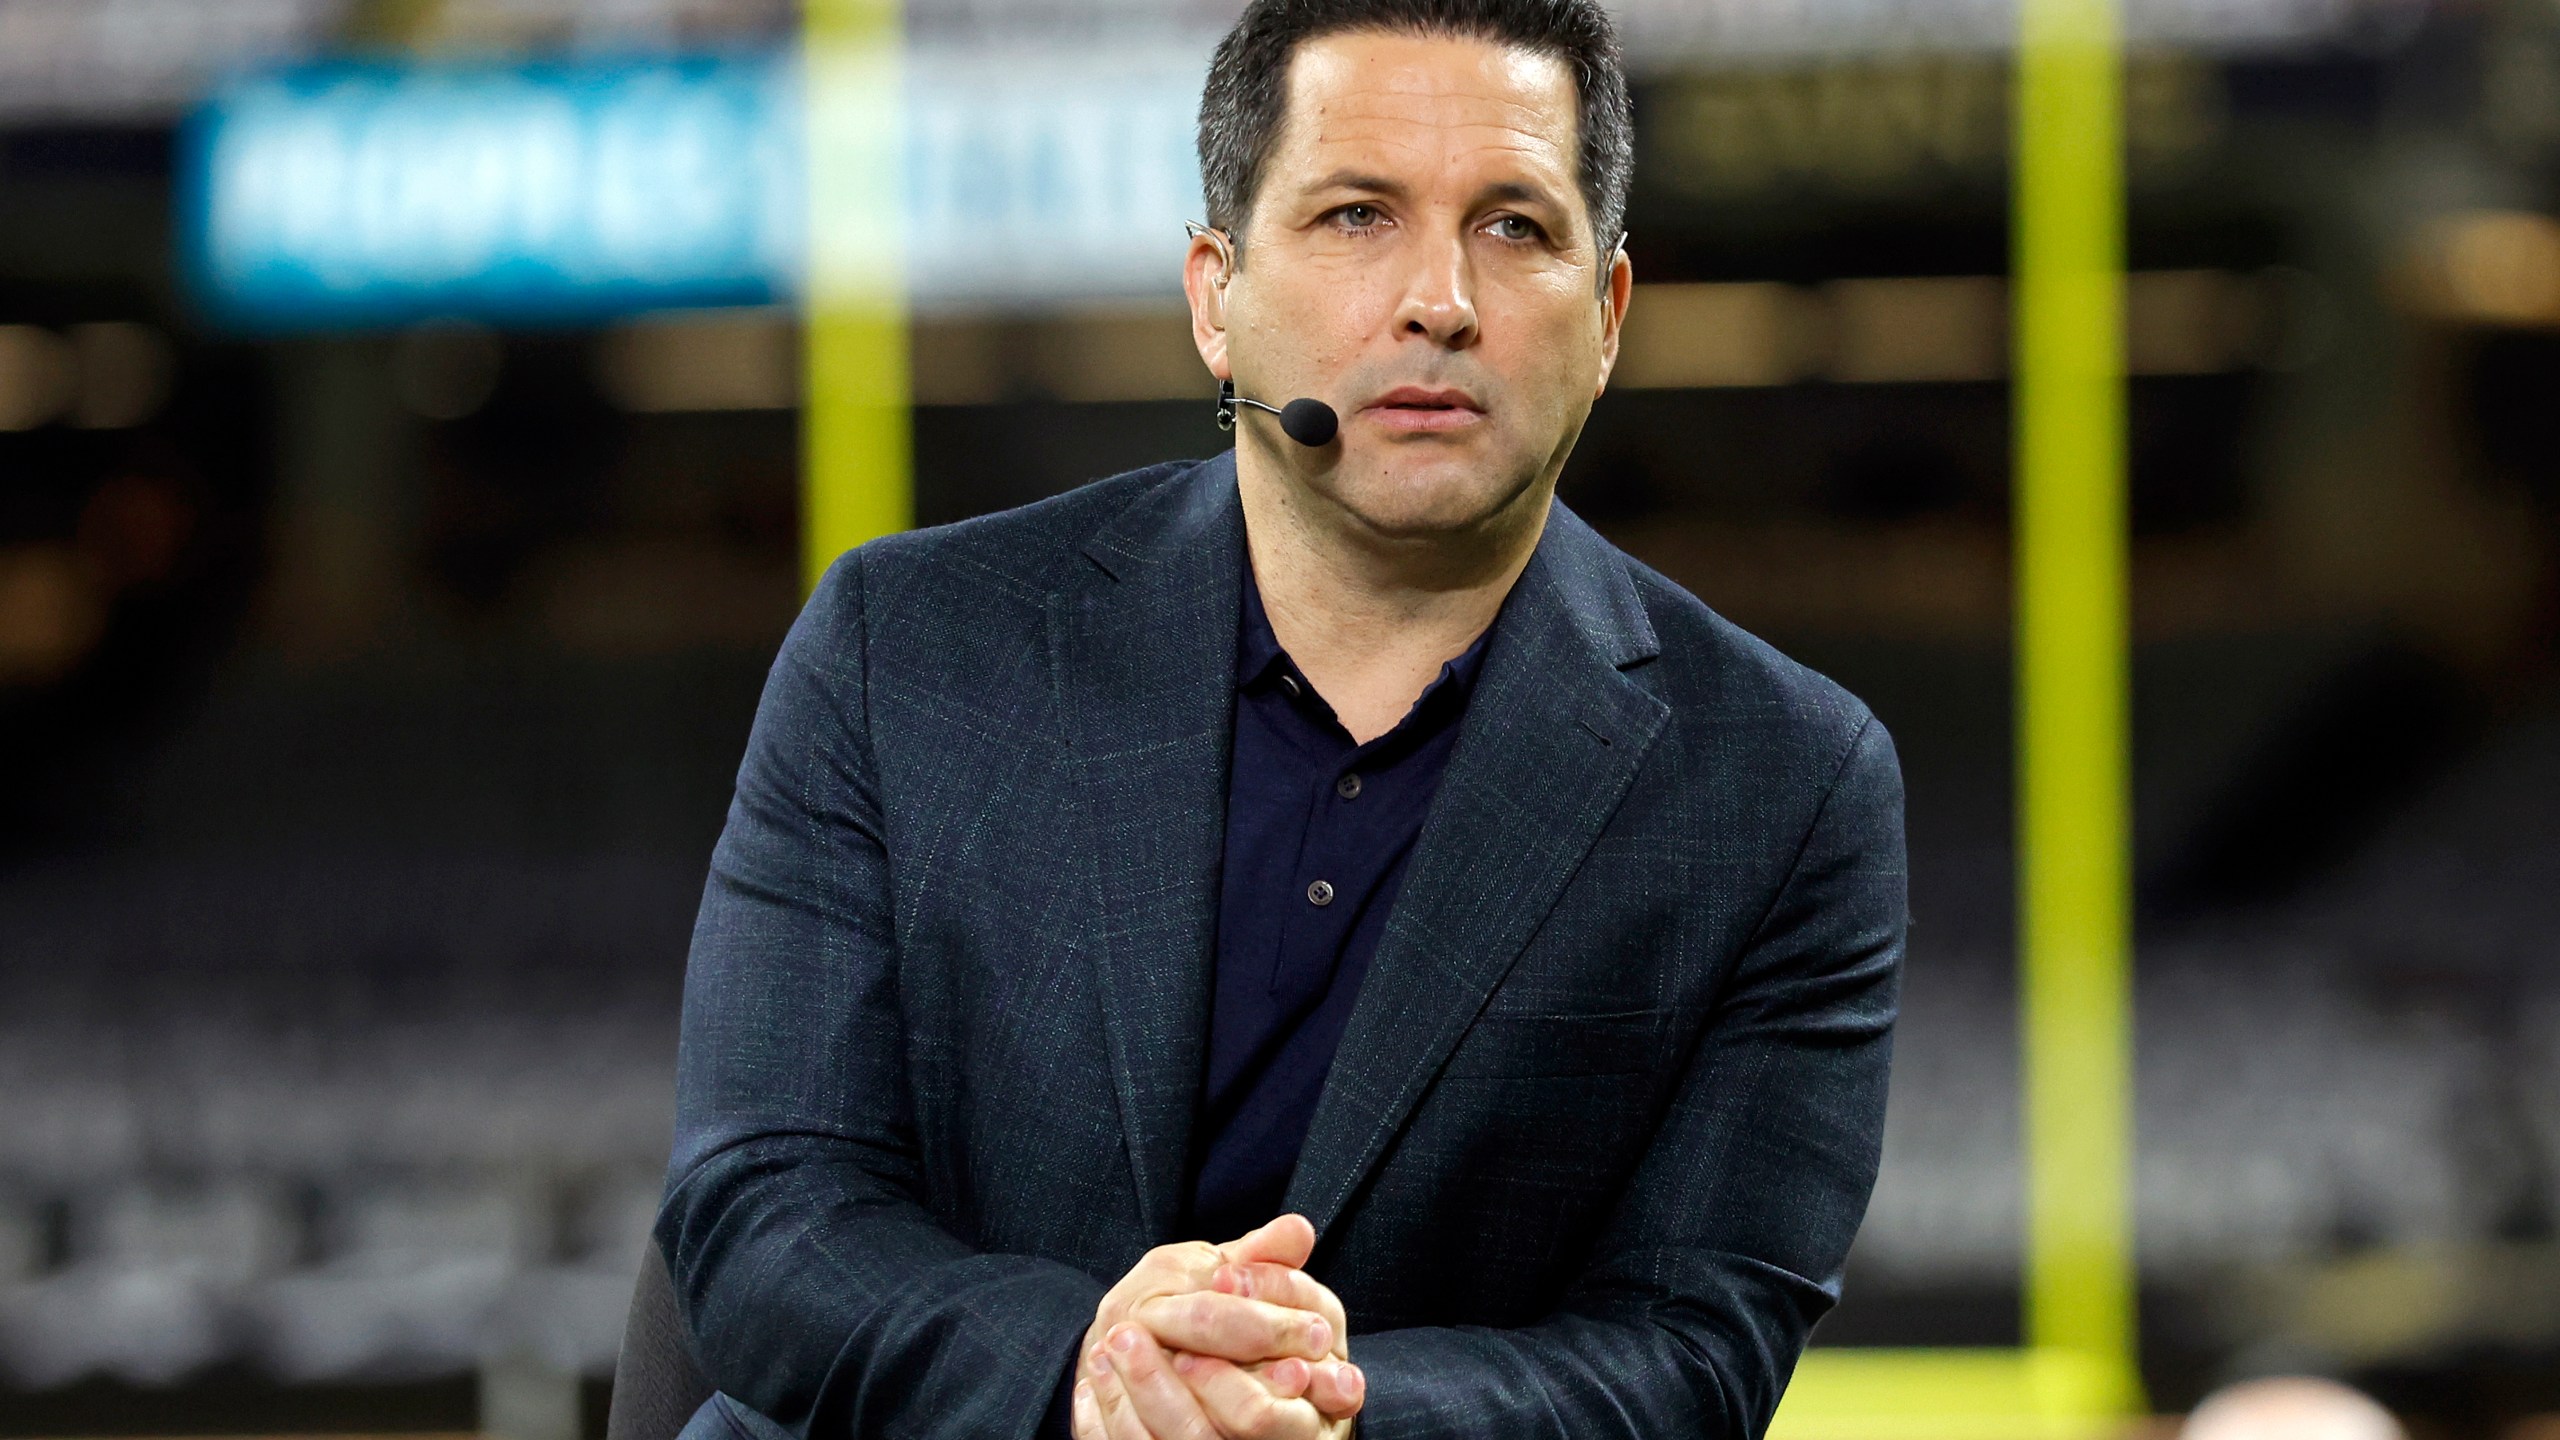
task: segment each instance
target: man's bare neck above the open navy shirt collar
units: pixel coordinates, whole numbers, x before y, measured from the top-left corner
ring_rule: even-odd
[[[1416,538],[1370,530],[1252,446],[1236,446],[1236,484],[1272,638],[1359,743],[1393,730],[1492,625],[1554,492],[1539,484],[1482,528]]]

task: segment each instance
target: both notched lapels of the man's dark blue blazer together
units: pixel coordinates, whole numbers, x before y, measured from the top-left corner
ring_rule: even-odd
[[[1234,451],[1149,487],[1052,597],[1114,1089],[1149,1243],[1183,1212],[1208,1040],[1244,507]],[[1298,1158],[1318,1232],[1385,1153],[1615,812],[1669,710],[1623,671],[1661,653],[1626,559],[1564,505],[1485,651]]]

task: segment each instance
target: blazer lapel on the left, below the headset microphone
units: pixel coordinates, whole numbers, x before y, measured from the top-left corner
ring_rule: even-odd
[[[1137,500],[1085,546],[1098,574],[1050,602],[1057,710],[1088,869],[1083,948],[1101,979],[1139,1217],[1183,1215],[1216,963],[1244,512],[1234,454]]]

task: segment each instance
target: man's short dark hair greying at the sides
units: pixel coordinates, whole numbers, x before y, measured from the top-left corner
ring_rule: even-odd
[[[1201,190],[1211,225],[1242,246],[1244,218],[1288,110],[1288,64],[1303,41],[1341,31],[1464,36],[1562,59],[1580,95],[1574,179],[1608,284],[1608,256],[1636,169],[1636,120],[1618,28],[1600,0],[1252,0],[1219,41],[1201,90]]]

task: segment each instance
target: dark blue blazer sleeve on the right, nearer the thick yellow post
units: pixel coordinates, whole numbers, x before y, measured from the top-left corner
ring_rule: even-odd
[[[1354,1332],[1362,1440],[1759,1440],[1874,1189],[1905,922],[1902,774],[1866,717],[1562,1309]]]

